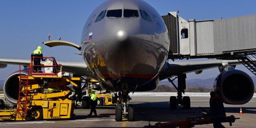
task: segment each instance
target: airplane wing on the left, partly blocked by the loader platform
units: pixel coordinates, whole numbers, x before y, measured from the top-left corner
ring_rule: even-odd
[[[0,58],[0,68],[7,67],[7,64],[28,66],[30,59],[15,59],[15,58]],[[62,64],[62,71],[73,73],[81,76],[87,76],[93,79],[97,79],[93,73],[87,70],[85,62],[66,62],[57,61],[58,64]]]

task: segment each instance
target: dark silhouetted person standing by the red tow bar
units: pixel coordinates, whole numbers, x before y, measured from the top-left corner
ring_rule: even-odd
[[[225,119],[226,113],[223,106],[223,101],[216,95],[214,91],[210,93],[210,118],[213,122],[214,128],[225,128],[221,121]]]

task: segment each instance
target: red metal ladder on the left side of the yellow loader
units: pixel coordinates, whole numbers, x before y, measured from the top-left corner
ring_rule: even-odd
[[[20,88],[17,102],[17,114],[18,118],[25,119],[27,113],[27,104],[28,104],[28,86],[29,86],[29,76],[21,75],[20,73]]]

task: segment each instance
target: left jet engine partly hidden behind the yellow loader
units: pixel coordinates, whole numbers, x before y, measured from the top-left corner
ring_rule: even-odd
[[[18,94],[20,88],[18,76],[20,76],[20,73],[22,75],[28,75],[28,71],[26,70],[15,71],[14,73],[11,73],[11,75],[9,75],[4,82],[4,95],[6,99],[12,104],[17,104],[18,102]]]

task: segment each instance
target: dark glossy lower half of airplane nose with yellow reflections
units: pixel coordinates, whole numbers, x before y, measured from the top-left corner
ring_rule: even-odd
[[[145,84],[157,75],[166,57],[163,46],[136,36],[124,41],[108,37],[84,49],[88,68],[110,85],[117,85],[120,80],[126,80],[131,86]]]

